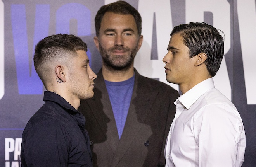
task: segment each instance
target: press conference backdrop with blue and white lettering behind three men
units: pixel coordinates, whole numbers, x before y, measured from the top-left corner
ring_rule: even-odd
[[[21,136],[43,104],[33,66],[35,44],[57,33],[88,44],[94,72],[101,56],[93,43],[97,10],[113,0],[0,0],[0,167],[20,167]],[[127,0],[142,15],[144,41],[135,58],[142,75],[166,82],[162,59],[174,26],[206,22],[225,33],[225,58],[214,81],[237,107],[246,131],[243,167],[256,164],[255,0]],[[177,85],[173,85],[178,90]],[[225,151],[225,150],[223,150]]]

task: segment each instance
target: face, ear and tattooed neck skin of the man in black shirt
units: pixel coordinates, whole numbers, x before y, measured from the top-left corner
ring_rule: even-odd
[[[70,58],[67,63],[55,62],[55,78],[47,90],[61,95],[75,109],[78,109],[80,99],[93,97],[93,80],[97,75],[89,66],[86,52],[79,50],[76,53],[78,57]]]

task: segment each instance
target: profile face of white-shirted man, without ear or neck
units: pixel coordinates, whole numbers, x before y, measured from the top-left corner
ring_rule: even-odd
[[[166,80],[180,86],[189,85],[194,77],[194,58],[189,58],[189,48],[180,33],[171,36],[167,50],[163,58]]]

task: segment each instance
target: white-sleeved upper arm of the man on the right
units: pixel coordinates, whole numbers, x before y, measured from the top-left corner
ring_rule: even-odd
[[[238,112],[237,112],[238,113]],[[199,166],[234,166],[244,134],[236,111],[223,104],[213,104],[199,111],[194,121]]]

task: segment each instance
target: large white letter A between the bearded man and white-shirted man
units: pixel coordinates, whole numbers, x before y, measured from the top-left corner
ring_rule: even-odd
[[[160,81],[171,85],[178,90],[178,85],[168,83],[164,72],[163,57],[169,44],[170,33],[173,27],[171,18],[170,0],[139,0],[138,11],[142,17],[143,43],[138,51],[134,66],[138,72],[149,78],[159,78]],[[158,60],[151,60],[152,32],[154,14],[156,19],[157,55]]]

